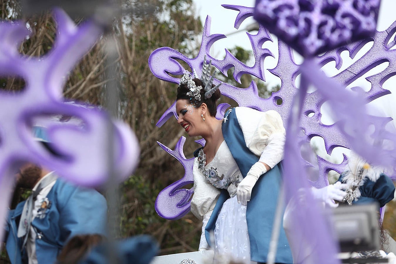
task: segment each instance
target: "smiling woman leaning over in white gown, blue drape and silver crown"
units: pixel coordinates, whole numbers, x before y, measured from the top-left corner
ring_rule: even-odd
[[[285,129],[276,111],[247,107],[230,109],[217,120],[217,88],[208,76],[192,79],[186,72],[177,89],[178,123],[189,136],[206,140],[195,153],[191,201],[192,213],[203,220],[200,250],[209,249],[208,231],[214,229],[216,255],[265,263]],[[280,233],[276,262],[292,263],[283,229]]]

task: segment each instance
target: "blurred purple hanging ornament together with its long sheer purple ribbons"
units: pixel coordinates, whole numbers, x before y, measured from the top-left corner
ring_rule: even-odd
[[[323,100],[327,100],[338,120],[338,128],[350,142],[352,149],[371,162],[380,162],[380,149],[369,153],[373,141],[367,140],[370,122],[365,118],[366,106],[363,96],[348,93],[342,84],[324,75],[312,57],[340,45],[361,40],[375,32],[379,0],[377,1],[269,1],[257,0],[255,19],[267,27],[299,52],[305,61],[301,64],[300,89],[293,102],[287,122],[287,135],[284,157],[284,187],[286,200],[297,202],[291,212],[292,229],[298,228],[305,235],[303,240],[316,241],[310,259],[313,263],[338,263],[335,258],[337,244],[333,240],[322,210],[307,195],[305,201],[297,199],[298,191],[307,188],[307,172],[304,170],[300,151],[296,147],[299,138],[300,119],[307,94],[312,84]],[[377,132],[377,131],[376,131]],[[376,160],[377,159],[377,160]]]

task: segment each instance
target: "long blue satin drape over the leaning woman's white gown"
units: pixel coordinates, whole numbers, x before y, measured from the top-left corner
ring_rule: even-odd
[[[227,119],[222,125],[223,137],[230,149],[232,157],[234,157],[234,160],[238,164],[242,176],[245,177],[251,166],[255,164],[259,158],[246,146],[242,129],[236,118],[235,109],[228,110],[225,116]],[[267,173],[261,175],[252,190],[251,200],[247,203],[246,221],[250,241],[250,257],[252,261],[267,262],[272,224],[274,222],[282,177],[280,167],[281,164],[279,163]],[[228,198],[229,195],[227,190],[222,189],[205,228],[205,236],[208,243],[209,232],[214,230],[217,215],[223,203]],[[281,226],[283,226],[283,221]],[[283,228],[281,228],[279,234],[275,262],[293,263],[289,243],[287,242]]]

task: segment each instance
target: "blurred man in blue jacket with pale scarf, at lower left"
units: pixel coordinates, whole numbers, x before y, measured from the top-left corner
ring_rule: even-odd
[[[17,187],[32,189],[32,194],[8,216],[5,241],[12,264],[54,263],[76,234],[106,234],[107,202],[96,190],[68,183],[31,163],[16,177]]]

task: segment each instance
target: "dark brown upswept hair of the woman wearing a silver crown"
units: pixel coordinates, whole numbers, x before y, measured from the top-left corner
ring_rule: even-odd
[[[202,103],[205,103],[208,106],[209,114],[214,117],[216,116],[217,113],[217,105],[216,101],[217,99],[220,98],[220,91],[217,89],[210,98],[206,99],[205,98],[205,90],[204,90],[204,85],[202,84],[202,81],[198,78],[192,79],[195,83],[196,86],[202,86],[202,89],[200,91],[201,93],[201,100],[196,101],[194,98],[191,99],[190,95],[187,95],[187,92],[190,91],[188,89],[187,84],[180,84],[179,87],[177,87],[177,97],[176,100],[179,99],[187,99],[190,100],[192,104],[194,104],[195,107],[200,107]],[[214,84],[212,84],[212,87],[215,87]]]

